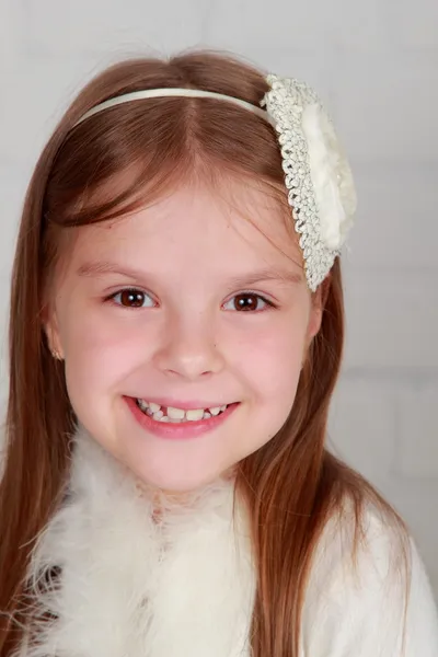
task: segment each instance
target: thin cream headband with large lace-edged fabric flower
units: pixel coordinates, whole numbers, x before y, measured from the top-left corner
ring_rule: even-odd
[[[112,97],[89,110],[74,124],[115,105],[146,99],[185,96],[217,99],[247,110],[274,126],[281,151],[285,184],[300,234],[306,276],[315,291],[346,241],[356,212],[356,191],[333,124],[315,92],[292,78],[268,76],[269,91],[256,105],[200,89],[145,89]]]

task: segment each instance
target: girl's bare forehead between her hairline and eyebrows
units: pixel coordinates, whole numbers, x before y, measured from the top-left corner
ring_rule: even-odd
[[[291,210],[245,181],[220,187],[182,185],[128,216],[81,227],[73,261],[126,258],[137,265],[169,262],[220,268],[261,261],[302,269]]]

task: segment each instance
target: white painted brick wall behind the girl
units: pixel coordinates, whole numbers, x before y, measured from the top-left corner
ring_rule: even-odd
[[[360,198],[331,445],[404,515],[438,592],[436,0],[0,0],[3,338],[22,194],[69,99],[118,57],[197,45],[304,78],[331,106]]]

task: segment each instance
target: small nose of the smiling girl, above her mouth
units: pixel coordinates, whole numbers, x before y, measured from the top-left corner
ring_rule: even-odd
[[[211,322],[174,320],[155,353],[155,366],[166,374],[196,380],[218,373],[224,365]]]

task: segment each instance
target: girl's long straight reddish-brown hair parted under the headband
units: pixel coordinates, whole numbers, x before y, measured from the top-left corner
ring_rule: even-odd
[[[199,164],[211,176],[227,172],[264,185],[292,227],[275,132],[233,104],[148,100],[147,107],[141,102],[123,104],[73,128],[84,112],[108,97],[161,87],[209,90],[254,105],[268,89],[251,66],[212,53],[124,61],[83,89],[39,158],[25,199],[11,290],[10,393],[0,488],[0,657],[11,655],[22,636],[33,541],[59,504],[68,476],[74,414],[62,366],[53,358],[43,328],[61,245],[76,227],[140,207],[187,172],[199,171]],[[112,186],[115,180],[127,182]],[[112,188],[118,192],[112,195]],[[257,568],[254,657],[298,657],[312,557],[327,520],[341,511],[346,497],[353,502],[358,538],[369,500],[404,534],[395,511],[324,447],[344,338],[338,261],[324,296],[321,330],[289,418],[267,445],[239,464],[237,491],[250,509]]]

